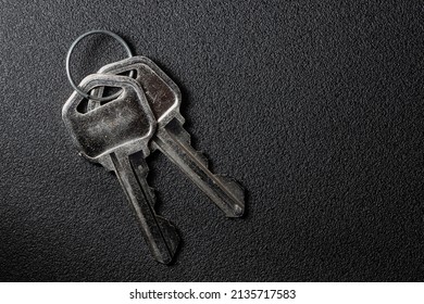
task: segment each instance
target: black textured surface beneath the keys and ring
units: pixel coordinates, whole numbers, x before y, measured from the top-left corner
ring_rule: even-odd
[[[350,3],[354,2],[354,3]],[[0,1],[0,279],[422,281],[422,1]],[[194,145],[247,190],[226,219],[154,153],[155,263],[112,174],[61,119],[67,48],[120,34],[180,87]],[[91,37],[77,79],[122,59]]]

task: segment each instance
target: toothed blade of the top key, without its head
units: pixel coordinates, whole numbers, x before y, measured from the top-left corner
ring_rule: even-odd
[[[133,155],[130,157],[120,156],[114,153],[110,156],[151,254],[162,264],[171,263],[178,246],[179,237],[175,227],[154,212],[154,197],[146,181],[147,164],[141,164],[139,153],[134,154],[135,157]],[[137,162],[133,163],[133,159]],[[144,156],[141,159],[145,160]]]

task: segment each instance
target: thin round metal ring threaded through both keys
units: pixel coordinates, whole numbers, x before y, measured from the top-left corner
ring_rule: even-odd
[[[71,61],[71,55],[72,55],[72,52],[74,51],[76,45],[78,45],[78,42],[80,40],[83,40],[85,37],[89,36],[89,35],[93,35],[93,34],[104,34],[104,35],[109,35],[111,36],[112,38],[114,38],[117,42],[121,43],[121,46],[123,46],[128,54],[128,58],[132,58],[133,56],[133,52],[132,50],[129,49],[128,45],[125,42],[124,39],[122,39],[120,36],[117,36],[116,34],[110,31],[110,30],[105,30],[105,29],[93,29],[93,30],[90,30],[90,31],[87,31],[83,35],[80,35],[78,38],[76,38],[76,40],[71,45],[70,47],[70,50],[67,51],[67,54],[66,54],[66,75],[67,75],[67,79],[70,80],[71,83],[71,86],[74,88],[75,91],[77,91],[80,96],[85,97],[86,99],[91,99],[91,100],[96,100],[96,101],[110,101],[112,99],[115,99],[116,97],[119,97],[121,94],[121,91],[120,92],[116,92],[112,96],[109,96],[109,97],[96,97],[96,96],[91,96],[91,94],[88,94],[86,92],[84,92],[82,89],[78,88],[77,85],[75,85],[75,81],[74,79],[72,78],[72,75],[71,75],[71,68],[70,68],[70,61]],[[133,71],[130,72],[129,74],[129,77],[133,76]]]

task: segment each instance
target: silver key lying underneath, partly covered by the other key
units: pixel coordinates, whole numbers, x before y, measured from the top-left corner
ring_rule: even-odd
[[[145,90],[147,101],[158,121],[158,129],[151,141],[151,150],[161,151],[185,173],[227,217],[239,217],[245,211],[245,193],[233,178],[215,175],[208,168],[207,157],[190,145],[190,135],[184,129],[179,113],[180,91],[175,83],[151,60],[133,56],[103,66],[99,73],[136,73],[135,78]],[[101,96],[102,90],[97,91]],[[99,106],[89,101],[91,109]]]

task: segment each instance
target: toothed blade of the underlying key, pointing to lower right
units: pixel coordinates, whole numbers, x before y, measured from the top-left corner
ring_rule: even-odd
[[[203,154],[199,154],[186,140],[183,126],[176,119],[157,130],[152,139],[154,149],[159,149],[192,182],[195,182],[227,217],[240,217],[245,212],[245,191],[229,177],[212,174]]]

